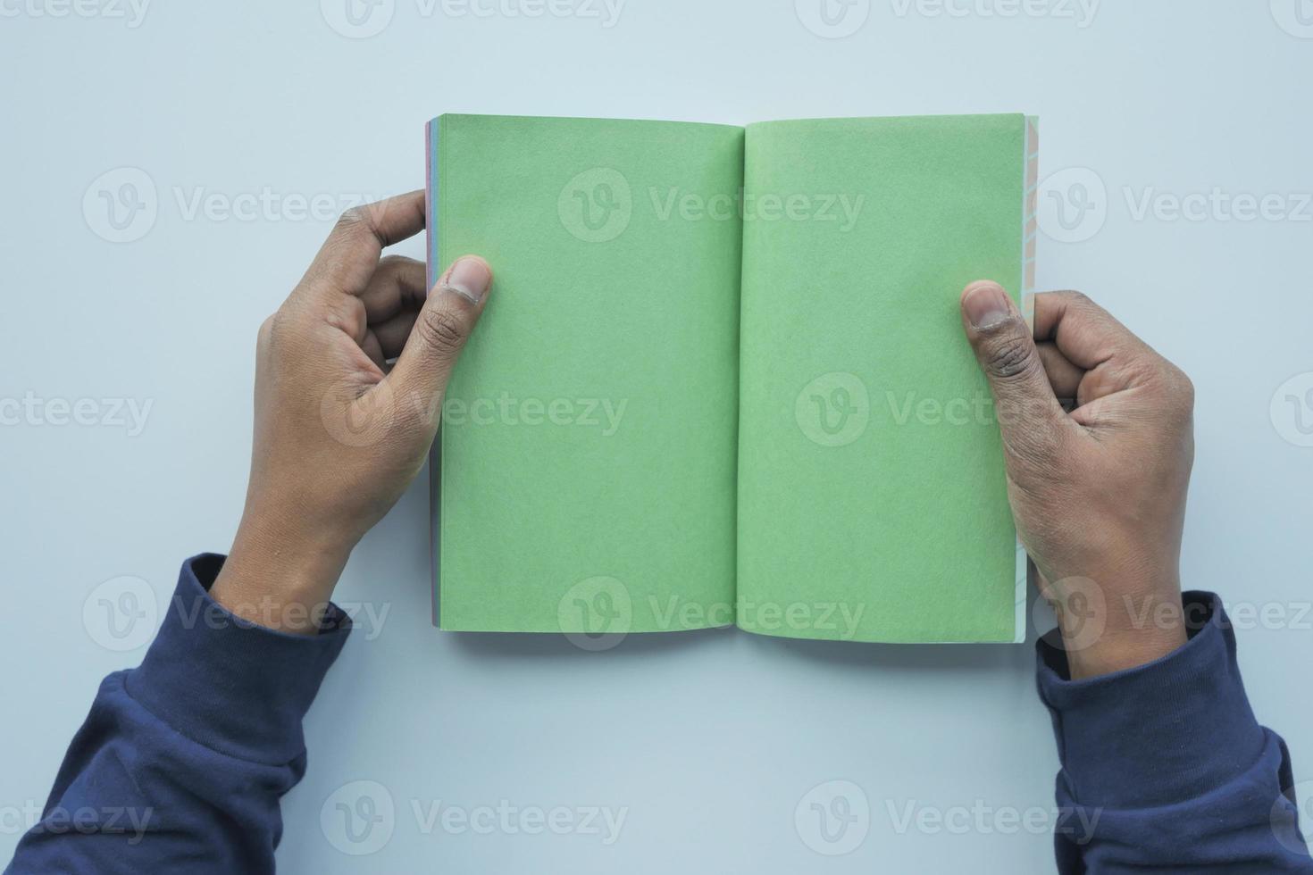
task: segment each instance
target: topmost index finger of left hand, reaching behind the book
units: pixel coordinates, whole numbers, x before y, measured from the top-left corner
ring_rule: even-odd
[[[297,290],[314,300],[358,295],[369,287],[383,248],[423,230],[423,192],[352,207],[337,219]]]

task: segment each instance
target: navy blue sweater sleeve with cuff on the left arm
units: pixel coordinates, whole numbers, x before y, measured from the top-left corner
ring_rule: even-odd
[[[320,634],[240,619],[189,559],[140,666],[106,677],[41,821],[7,872],[272,872],[278,799],[305,774],[301,722],[351,621]]]

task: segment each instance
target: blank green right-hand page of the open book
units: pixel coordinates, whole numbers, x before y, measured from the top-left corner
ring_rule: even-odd
[[[1016,636],[998,426],[957,300],[982,277],[1020,290],[1024,160],[1022,115],[748,126],[748,199],[813,209],[744,224],[741,627]]]

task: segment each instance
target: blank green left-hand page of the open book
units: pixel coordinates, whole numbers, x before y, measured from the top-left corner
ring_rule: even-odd
[[[738,192],[742,129],[444,115],[429,138],[431,265],[496,274],[442,409],[439,623],[731,623],[742,226],[666,207]]]

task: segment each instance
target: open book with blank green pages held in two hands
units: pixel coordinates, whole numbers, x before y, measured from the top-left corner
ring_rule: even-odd
[[[1022,640],[957,300],[1028,290],[1035,160],[1024,115],[429,122],[429,273],[496,274],[433,449],[435,622]]]

